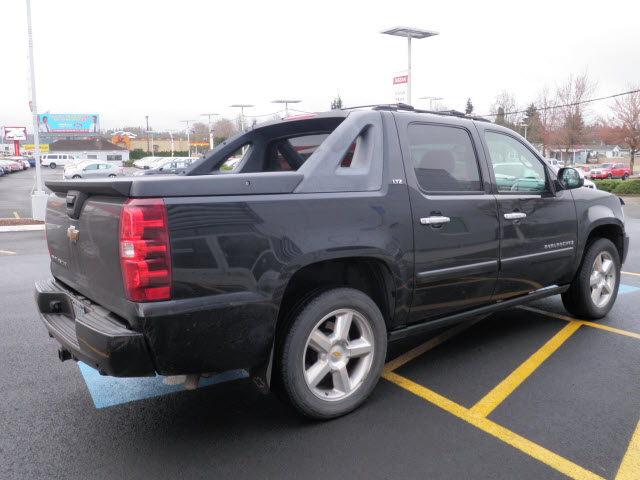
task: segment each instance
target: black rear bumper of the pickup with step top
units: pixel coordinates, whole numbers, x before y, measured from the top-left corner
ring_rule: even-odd
[[[154,376],[144,336],[54,279],[36,283],[40,318],[63,350],[114,377]]]

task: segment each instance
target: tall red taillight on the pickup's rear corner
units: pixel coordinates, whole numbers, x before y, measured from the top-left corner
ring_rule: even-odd
[[[171,298],[169,228],[161,198],[127,200],[120,215],[120,265],[127,298]]]

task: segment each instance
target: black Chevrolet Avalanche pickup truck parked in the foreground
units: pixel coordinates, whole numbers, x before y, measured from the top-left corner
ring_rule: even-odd
[[[372,392],[389,341],[555,294],[606,315],[628,237],[619,199],[582,183],[457,112],[277,120],[177,176],[48,182],[37,305],[62,360],[245,368],[331,418]]]

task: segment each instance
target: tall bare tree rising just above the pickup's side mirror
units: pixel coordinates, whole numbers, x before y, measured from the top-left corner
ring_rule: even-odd
[[[569,151],[584,141],[586,127],[585,115],[588,104],[580,103],[589,99],[596,90],[596,83],[589,80],[587,73],[569,78],[558,87],[559,126],[556,130],[556,142],[565,149],[565,165],[569,159]]]

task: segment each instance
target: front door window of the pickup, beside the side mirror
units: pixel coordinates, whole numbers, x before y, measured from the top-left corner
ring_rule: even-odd
[[[544,166],[527,147],[502,133],[486,132],[485,140],[499,192],[546,190]]]

